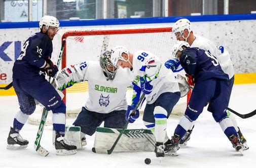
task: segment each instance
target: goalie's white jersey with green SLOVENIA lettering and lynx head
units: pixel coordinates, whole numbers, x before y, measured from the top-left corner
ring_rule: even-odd
[[[98,113],[109,113],[114,110],[126,110],[127,87],[132,86],[130,69],[118,69],[114,80],[107,80],[99,62],[86,61],[61,70],[57,76],[59,90],[64,90],[74,83],[88,81],[89,98],[85,108]],[[82,97],[81,99],[85,99]]]

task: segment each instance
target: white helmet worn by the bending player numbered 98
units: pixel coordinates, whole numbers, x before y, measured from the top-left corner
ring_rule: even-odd
[[[128,59],[125,60],[124,57],[122,57],[122,54],[125,53],[128,55]],[[123,60],[123,61],[129,61],[130,57],[129,57],[129,51],[123,47],[123,46],[116,46],[111,54],[111,62],[113,63],[114,66],[117,67],[117,62],[118,60]]]

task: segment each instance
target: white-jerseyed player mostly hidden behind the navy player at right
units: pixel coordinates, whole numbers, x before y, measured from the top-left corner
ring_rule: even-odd
[[[234,84],[234,68],[231,61],[231,57],[229,52],[224,49],[223,46],[216,46],[212,41],[207,38],[201,37],[199,35],[194,35],[193,30],[191,28],[191,23],[188,19],[179,19],[176,21],[172,27],[172,32],[175,33],[177,40],[187,41],[191,48],[198,47],[205,51],[208,51],[213,56],[217,58],[217,61],[220,63],[222,70],[229,75],[229,97],[231,96],[233,84]],[[179,69],[179,63],[175,60],[169,60],[165,63],[167,67],[176,71]],[[190,84],[193,85],[193,79],[189,79],[191,82]],[[240,141],[243,144],[244,149],[248,149],[246,144],[246,140],[243,137],[239,127],[237,127],[237,122],[235,117],[227,110],[228,117],[231,118],[237,134],[239,135]],[[194,125],[188,130],[184,137],[182,137],[180,141],[180,145],[186,145],[187,141],[190,139],[190,135]]]

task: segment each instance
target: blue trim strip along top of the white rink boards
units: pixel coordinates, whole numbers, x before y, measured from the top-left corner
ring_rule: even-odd
[[[126,18],[126,19],[95,19],[95,20],[61,20],[61,27],[68,26],[98,26],[98,25],[123,25],[123,24],[152,24],[174,23],[178,19],[187,18],[191,22],[231,21],[231,20],[256,20],[256,14],[237,15],[202,15],[202,16],[173,16],[154,18]],[[3,22],[0,29],[5,28],[30,28],[39,27],[39,22]]]

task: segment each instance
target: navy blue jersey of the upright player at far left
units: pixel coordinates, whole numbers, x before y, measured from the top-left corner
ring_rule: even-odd
[[[13,78],[32,78],[39,75],[51,54],[51,38],[43,32],[33,34],[25,41],[19,58],[14,62]]]

